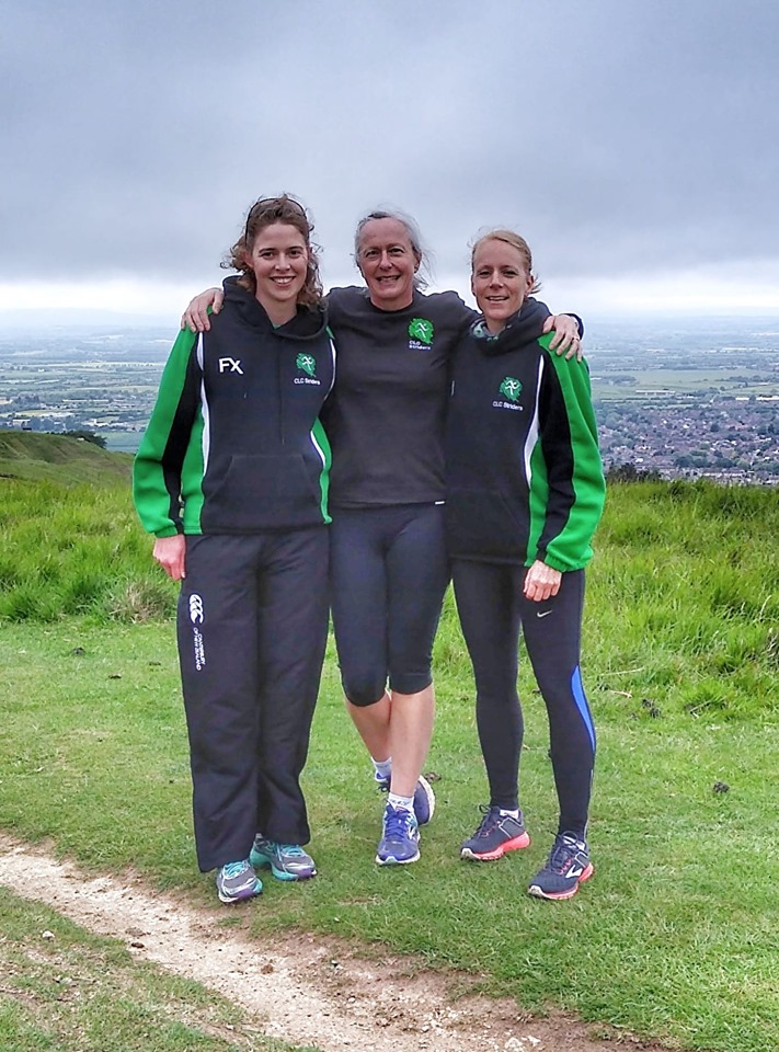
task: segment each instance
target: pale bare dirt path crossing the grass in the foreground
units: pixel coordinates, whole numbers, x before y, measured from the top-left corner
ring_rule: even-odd
[[[34,887],[27,877],[31,869]],[[259,1029],[270,1037],[321,1052],[615,1049],[614,1041],[593,1041],[581,1022],[562,1015],[532,1019],[509,999],[452,999],[455,991],[462,993],[461,974],[421,972],[417,962],[401,957],[368,961],[333,938],[274,936],[268,945],[249,940],[220,926],[224,907],[193,910],[180,896],[152,894],[135,877],[123,877],[122,882],[87,879],[73,866],[3,835],[0,884],[217,991],[255,1015]],[[632,1049],[662,1052],[625,1040]]]

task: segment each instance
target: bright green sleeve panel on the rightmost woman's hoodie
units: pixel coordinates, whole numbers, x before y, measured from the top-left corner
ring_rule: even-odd
[[[600,519],[606,482],[598,449],[598,431],[593,409],[589,370],[585,362],[566,361],[549,350],[552,333],[539,343],[548,353],[560,381],[571,431],[574,501],[563,529],[547,547],[545,562],[555,570],[580,570],[593,557],[592,538]]]

